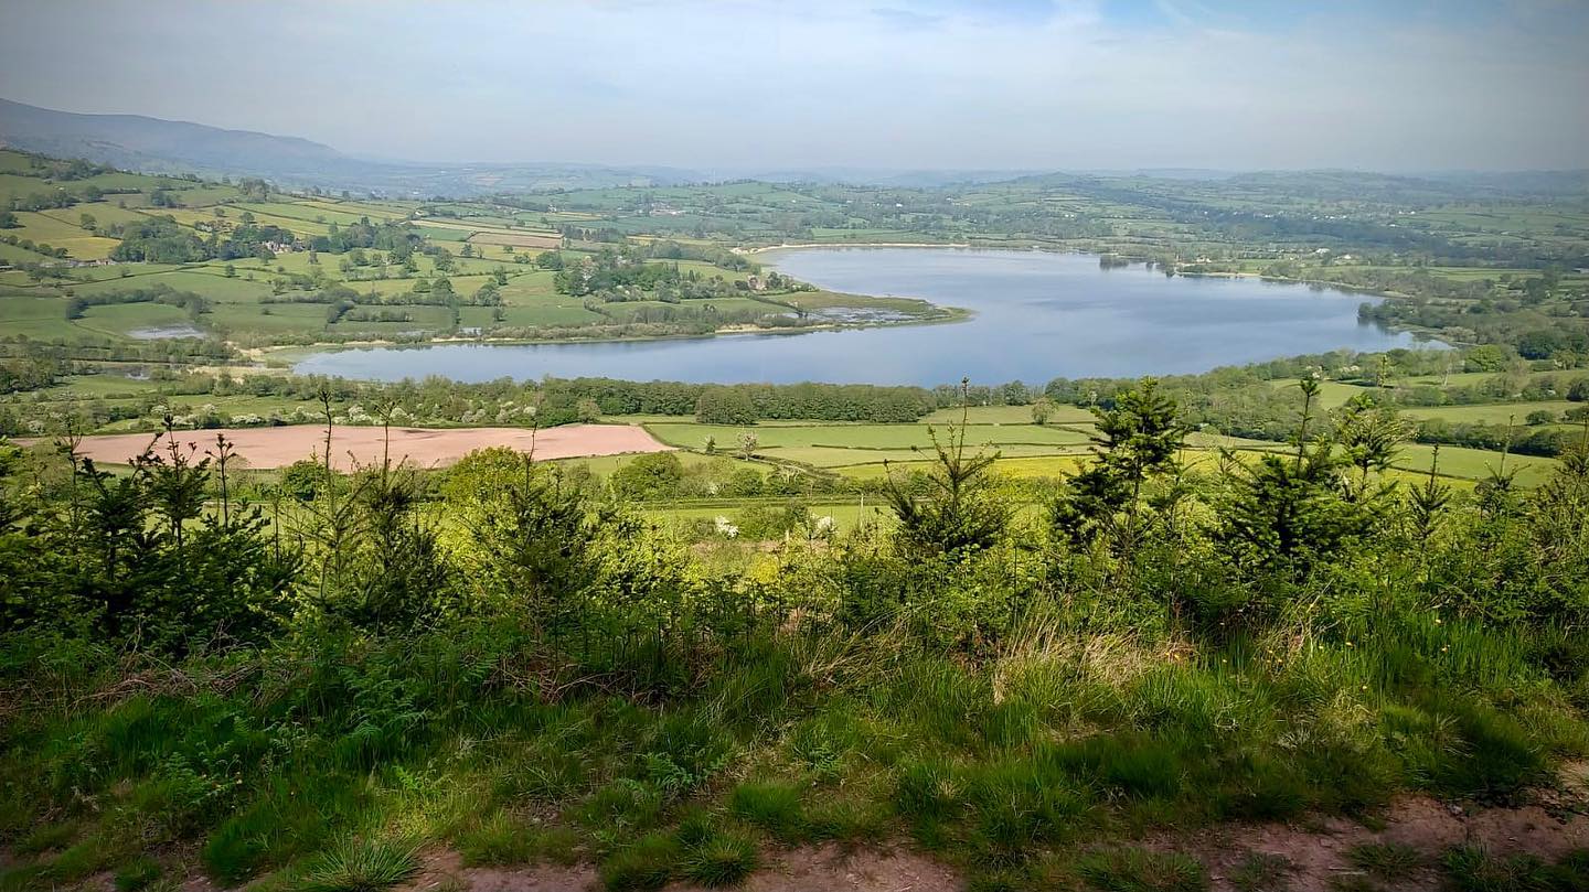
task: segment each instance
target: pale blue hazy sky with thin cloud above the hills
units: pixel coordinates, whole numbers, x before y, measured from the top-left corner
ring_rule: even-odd
[[[0,0],[0,97],[439,162],[1589,167],[1589,0]]]

